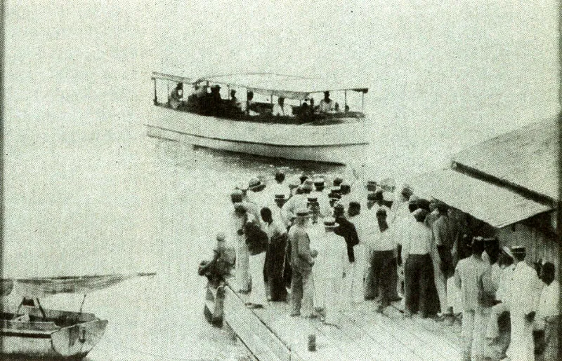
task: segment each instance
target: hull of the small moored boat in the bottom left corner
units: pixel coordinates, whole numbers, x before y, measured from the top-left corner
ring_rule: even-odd
[[[25,313],[34,315],[37,308],[27,307]],[[82,313],[77,324],[60,327],[53,316],[78,315],[65,311],[44,310],[43,321],[2,320],[0,336],[2,360],[81,360],[100,341],[107,320]]]

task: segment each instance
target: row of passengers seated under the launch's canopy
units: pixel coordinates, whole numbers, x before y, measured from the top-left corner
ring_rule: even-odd
[[[277,103],[261,103],[254,100],[254,92],[247,91],[246,100],[240,101],[236,90],[231,89],[228,99],[222,99],[221,86],[208,86],[206,83],[196,83],[192,93],[184,97],[183,83],[177,83],[169,93],[168,106],[174,109],[195,111],[205,115],[218,116],[282,116],[289,118],[314,118],[315,114],[331,114],[341,111],[339,104],[330,98],[329,91],[315,105],[313,97],[303,100],[299,106],[292,106],[285,102],[285,97],[277,97]],[[344,111],[349,111],[346,105]]]

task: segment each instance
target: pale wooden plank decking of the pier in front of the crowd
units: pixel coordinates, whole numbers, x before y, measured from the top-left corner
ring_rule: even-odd
[[[346,312],[339,327],[289,316],[289,304],[244,306],[247,296],[227,287],[225,320],[259,360],[460,360],[460,327],[431,319],[405,319],[395,307],[376,313],[365,301]],[[308,351],[315,334],[317,350]]]

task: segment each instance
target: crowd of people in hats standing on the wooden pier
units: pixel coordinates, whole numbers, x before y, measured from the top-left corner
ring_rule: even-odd
[[[464,360],[556,360],[554,264],[529,266],[525,247],[502,247],[469,214],[391,182],[282,171],[230,198],[235,285],[249,308],[288,301],[290,316],[337,326],[365,300],[378,313],[402,300],[405,318],[462,320]]]

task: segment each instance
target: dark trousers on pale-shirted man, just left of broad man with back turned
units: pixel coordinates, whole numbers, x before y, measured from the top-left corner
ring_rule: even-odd
[[[393,292],[392,274],[396,273],[393,251],[374,251],[370,259],[371,268],[367,274],[367,287],[365,287],[365,298],[374,298],[381,290],[381,305],[390,304]],[[396,292],[396,291],[395,291]]]

